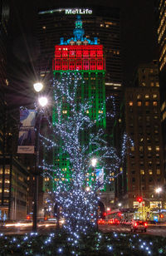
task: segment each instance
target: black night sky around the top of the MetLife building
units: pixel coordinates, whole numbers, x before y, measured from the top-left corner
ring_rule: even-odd
[[[10,74],[14,80],[32,84],[35,75],[35,60],[38,56],[37,37],[35,35],[35,17],[37,8],[78,7],[78,1],[42,1],[11,0],[12,20]],[[154,0],[98,0],[98,5],[120,7],[122,28],[122,60],[125,84],[129,85],[134,69],[139,63],[151,62],[157,58],[154,23]],[[79,7],[96,5],[95,1],[79,1]],[[25,90],[24,90],[25,91]],[[25,91],[27,94],[27,91]]]

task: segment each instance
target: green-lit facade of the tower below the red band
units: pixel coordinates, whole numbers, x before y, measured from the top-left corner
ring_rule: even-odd
[[[73,75],[73,74],[74,75]],[[64,79],[66,77],[66,79]],[[71,78],[70,78],[71,77]],[[79,79],[78,79],[79,77]],[[95,150],[95,156],[100,155],[98,150],[95,149],[95,145],[89,145],[90,133],[97,133],[101,128],[105,128],[105,83],[104,83],[105,72],[79,72],[79,71],[66,71],[61,73],[56,73],[56,81],[61,83],[61,88],[66,84],[68,86],[68,91],[72,96],[72,101],[66,100],[66,92],[61,91],[61,95],[58,96],[58,107],[54,106],[52,123],[56,126],[58,123],[62,124],[67,122],[71,118],[74,120],[75,112],[81,111],[82,106],[85,106],[84,112],[81,113],[87,116],[90,121],[93,122],[93,126],[87,129],[79,131],[79,140],[82,146],[87,146],[89,149],[87,153]],[[75,88],[76,86],[76,88]],[[74,89],[75,88],[75,89]],[[54,89],[54,96],[57,93],[57,89]],[[73,90],[75,92],[73,97]],[[58,108],[59,112],[57,111]],[[75,111],[75,112],[74,112]],[[76,124],[74,125],[76,126]],[[56,140],[56,137],[55,137]],[[53,165],[61,170],[61,180],[67,184],[71,182],[71,172],[72,164],[69,160],[68,155],[62,150],[63,142],[59,141],[59,148],[53,152]],[[99,164],[98,164],[99,167]],[[56,188],[56,182],[59,178],[54,175],[53,188]],[[85,176],[85,180],[88,181],[88,185],[95,182],[95,174],[93,169],[90,168],[89,175]]]

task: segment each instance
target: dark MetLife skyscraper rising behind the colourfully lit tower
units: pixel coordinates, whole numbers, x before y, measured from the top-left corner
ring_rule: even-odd
[[[112,88],[122,84],[122,63],[120,47],[120,9],[114,7],[57,7],[39,10],[37,15],[37,37],[40,44],[38,73],[47,76],[51,72],[55,45],[60,38],[72,37],[76,15],[81,15],[85,36],[98,37],[104,46],[106,83]]]

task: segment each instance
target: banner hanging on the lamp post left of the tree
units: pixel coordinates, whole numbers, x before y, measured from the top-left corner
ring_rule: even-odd
[[[35,152],[35,110],[20,111],[20,129],[18,136],[17,153],[34,154]]]

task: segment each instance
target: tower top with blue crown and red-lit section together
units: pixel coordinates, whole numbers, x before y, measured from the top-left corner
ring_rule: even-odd
[[[105,71],[103,46],[98,45],[97,37],[90,41],[84,36],[81,17],[76,20],[74,37],[55,47],[53,71]]]

